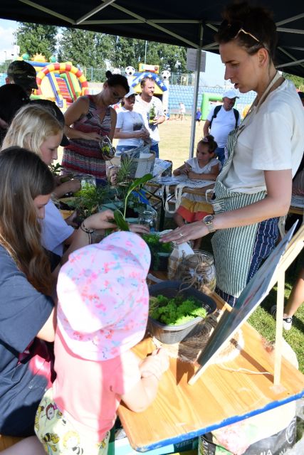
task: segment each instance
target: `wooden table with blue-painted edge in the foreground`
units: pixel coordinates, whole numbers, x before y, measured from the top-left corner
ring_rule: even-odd
[[[213,295],[219,308],[224,301]],[[273,358],[259,333],[245,323],[245,346],[225,368],[246,368],[253,375],[211,365],[194,385],[187,381],[194,365],[170,359],[159,382],[157,399],[140,414],[120,405],[118,414],[133,449],[148,451],[197,437],[226,424],[260,414],[304,395],[304,375],[283,358],[281,385],[273,385]],[[139,343],[135,353],[144,358],[154,349],[151,338]]]

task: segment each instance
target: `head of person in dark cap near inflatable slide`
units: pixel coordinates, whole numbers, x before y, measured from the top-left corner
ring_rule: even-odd
[[[24,60],[11,62],[7,69],[6,84],[20,85],[26,94],[30,96],[33,93],[33,89],[38,89],[35,68]]]

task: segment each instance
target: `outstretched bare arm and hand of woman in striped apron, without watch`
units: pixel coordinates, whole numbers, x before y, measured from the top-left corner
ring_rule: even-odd
[[[263,220],[288,213],[291,200],[291,170],[264,171],[264,175],[267,188],[266,198],[243,208],[214,215],[213,225],[216,230],[260,223]],[[208,233],[209,230],[206,225],[201,221],[196,221],[169,232],[161,238],[161,241],[182,243],[204,237]]]

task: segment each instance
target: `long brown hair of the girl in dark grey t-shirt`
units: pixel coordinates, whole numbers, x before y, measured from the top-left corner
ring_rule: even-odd
[[[50,263],[33,200],[53,191],[52,173],[37,154],[15,146],[0,153],[0,182],[0,245],[33,287],[49,295]]]

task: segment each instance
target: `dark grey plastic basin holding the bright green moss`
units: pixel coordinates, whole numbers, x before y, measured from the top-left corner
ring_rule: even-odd
[[[173,298],[179,292],[181,285],[183,286],[182,282],[174,281],[153,284],[149,287],[150,295],[158,296],[159,294],[162,294],[165,297]],[[211,314],[216,310],[215,301],[211,299],[211,297],[206,296],[206,294],[197,291],[194,287],[184,289],[184,291],[182,291],[182,295],[185,298],[192,296],[201,301],[201,306],[206,309],[207,314]],[[147,329],[152,336],[157,338],[157,340],[162,343],[174,344],[199,333],[203,324],[204,319],[197,317],[180,326],[167,326],[166,324],[156,321],[149,316]]]

